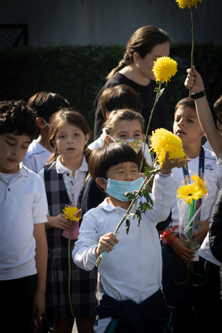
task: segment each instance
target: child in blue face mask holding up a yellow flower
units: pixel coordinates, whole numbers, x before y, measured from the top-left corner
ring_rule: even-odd
[[[128,234],[120,229],[118,240],[113,232],[130,205],[124,194],[142,185],[139,157],[125,144],[109,144],[89,157],[92,178],[109,196],[84,215],[72,255],[77,266],[89,271],[103,251],[109,253],[98,267],[103,295],[96,308],[99,320],[95,332],[107,332],[114,318],[121,332],[171,332],[171,311],[161,291],[162,255],[155,225],[169,216],[171,169],[182,164],[166,158],[153,183],[153,209],[142,213],[139,227],[130,218]],[[162,325],[167,325],[168,331],[163,331]]]

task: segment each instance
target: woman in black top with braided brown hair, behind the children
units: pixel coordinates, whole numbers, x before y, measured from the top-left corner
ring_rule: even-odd
[[[101,135],[105,119],[101,112],[100,96],[104,89],[125,84],[129,85],[139,94],[143,103],[142,116],[147,126],[148,119],[153,108],[156,93],[155,76],[153,64],[157,58],[169,56],[170,40],[165,31],[155,26],[144,26],[139,28],[131,36],[119,65],[108,74],[108,81],[101,88],[95,99],[96,118],[94,124],[94,139]],[[151,120],[148,135],[156,128],[170,129],[169,110],[163,96],[157,102],[155,112]]]

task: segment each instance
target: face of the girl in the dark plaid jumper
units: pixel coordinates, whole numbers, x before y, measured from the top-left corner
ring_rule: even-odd
[[[83,155],[85,144],[89,140],[89,133],[85,135],[80,128],[71,123],[62,125],[53,142],[62,159],[73,159]]]

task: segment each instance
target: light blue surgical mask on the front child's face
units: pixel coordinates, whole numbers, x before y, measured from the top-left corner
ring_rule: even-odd
[[[110,196],[121,201],[130,201],[127,196],[124,196],[124,194],[126,192],[138,191],[144,182],[144,178],[139,177],[138,179],[133,180],[133,182],[123,182],[108,178],[107,182],[106,192],[110,194]]]

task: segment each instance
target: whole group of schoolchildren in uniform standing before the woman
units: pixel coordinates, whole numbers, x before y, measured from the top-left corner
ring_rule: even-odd
[[[139,189],[152,162],[139,95],[127,85],[104,89],[105,126],[89,147],[87,121],[58,94],[0,103],[0,290],[8,332],[29,332],[42,314],[53,321],[54,333],[71,333],[75,318],[80,333],[216,332],[221,254],[210,219],[221,213],[222,136],[195,68],[185,85],[193,99],[176,105],[173,133],[189,160],[171,162],[166,155],[149,189],[153,209],[142,214],[139,227],[130,217],[121,237],[114,230],[130,205],[124,194]],[[216,155],[202,146],[205,135]],[[176,194],[185,169],[189,179],[205,179],[209,193],[198,222],[198,253],[178,236]],[[79,224],[62,213],[67,205],[78,208],[76,216],[81,211]],[[164,230],[167,243],[160,241]]]

